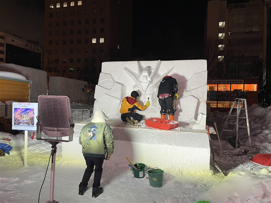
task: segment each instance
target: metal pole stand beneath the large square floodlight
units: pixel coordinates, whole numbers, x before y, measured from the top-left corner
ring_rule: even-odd
[[[52,155],[52,163],[51,163],[51,178],[50,178],[50,200],[46,201],[46,203],[58,203],[58,201],[54,200],[54,189],[55,189],[55,155],[57,152],[56,145],[59,142],[56,141],[47,141],[52,146],[51,155]]]

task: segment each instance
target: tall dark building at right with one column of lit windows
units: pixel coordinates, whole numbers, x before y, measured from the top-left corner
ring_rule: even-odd
[[[263,77],[270,7],[270,0],[208,1],[205,51],[209,78]]]

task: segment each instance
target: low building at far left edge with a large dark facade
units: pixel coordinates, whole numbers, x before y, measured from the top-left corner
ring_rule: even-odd
[[[20,66],[42,69],[43,48],[39,42],[0,31],[0,63],[14,63]]]

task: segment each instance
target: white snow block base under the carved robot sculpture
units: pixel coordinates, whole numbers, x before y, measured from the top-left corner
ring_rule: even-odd
[[[86,123],[76,123],[73,141],[62,143],[62,156],[82,159],[79,134]],[[210,146],[206,132],[164,131],[150,128],[111,126],[114,134],[114,153],[110,161],[144,163],[148,167],[210,170]]]

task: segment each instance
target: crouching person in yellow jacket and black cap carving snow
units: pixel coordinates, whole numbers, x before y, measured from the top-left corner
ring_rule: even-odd
[[[141,106],[136,100],[139,97],[137,91],[131,92],[131,97],[124,97],[122,100],[122,104],[120,107],[121,120],[129,122],[129,124],[134,125],[139,121],[142,121],[143,115],[139,115],[135,113],[135,110],[143,111],[148,106],[150,106],[150,102],[148,101],[144,106]]]

